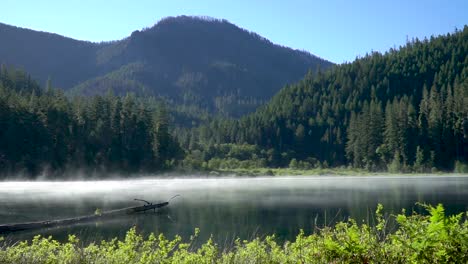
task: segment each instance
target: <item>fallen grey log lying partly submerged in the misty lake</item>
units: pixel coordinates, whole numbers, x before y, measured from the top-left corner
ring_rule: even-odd
[[[177,197],[176,195],[172,197]],[[59,220],[50,220],[50,221],[40,221],[40,222],[29,222],[29,223],[19,223],[19,224],[5,224],[0,225],[0,234],[6,234],[16,231],[23,231],[23,230],[31,230],[31,229],[40,229],[40,228],[47,228],[47,227],[55,227],[55,226],[66,226],[66,225],[73,225],[78,223],[90,222],[99,219],[105,219],[111,216],[118,216],[118,215],[129,215],[135,214],[140,212],[146,212],[148,210],[156,210],[157,208],[161,208],[164,206],[169,205],[169,201],[163,203],[152,204],[145,200],[135,199],[136,201],[144,201],[146,204],[142,206],[134,206],[134,207],[127,207],[123,209],[116,209],[112,211],[106,211],[102,213],[96,213],[94,215],[87,215],[87,216],[80,216],[74,218],[66,218],[66,219],[59,219]]]

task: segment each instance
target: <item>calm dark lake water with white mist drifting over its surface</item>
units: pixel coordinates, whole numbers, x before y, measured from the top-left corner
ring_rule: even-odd
[[[82,182],[0,182],[0,224],[60,219],[137,206],[134,198],[162,202],[180,194],[157,213],[116,217],[68,227],[24,231],[9,240],[68,233],[82,241],[124,237],[136,226],[144,234],[180,234],[200,228],[200,241],[211,234],[219,244],[277,234],[294,239],[352,217],[373,223],[378,203],[388,213],[402,208],[422,212],[416,202],[444,204],[447,213],[468,210],[468,175],[448,176],[311,176],[207,179],[141,179]]]

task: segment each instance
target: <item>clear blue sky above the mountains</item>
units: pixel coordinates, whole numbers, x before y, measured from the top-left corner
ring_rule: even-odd
[[[453,32],[468,0],[2,0],[0,22],[80,40],[107,41],[166,16],[225,18],[272,42],[332,62]],[[0,40],[1,45],[1,40]]]

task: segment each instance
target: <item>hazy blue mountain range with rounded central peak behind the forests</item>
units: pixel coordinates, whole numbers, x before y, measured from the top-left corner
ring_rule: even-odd
[[[226,20],[169,17],[113,42],[91,43],[0,24],[0,62],[71,94],[162,96],[240,115],[309,70],[332,63],[275,45]]]

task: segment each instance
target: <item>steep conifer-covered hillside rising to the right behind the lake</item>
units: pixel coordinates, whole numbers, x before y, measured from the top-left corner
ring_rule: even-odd
[[[468,26],[309,74],[255,113],[181,142],[256,145],[270,167],[451,170],[468,162]]]

